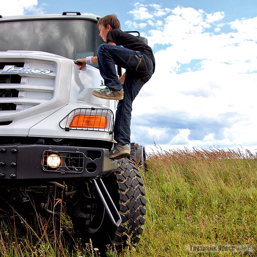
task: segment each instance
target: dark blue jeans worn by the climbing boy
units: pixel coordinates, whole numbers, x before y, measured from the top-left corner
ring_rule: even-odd
[[[124,99],[117,105],[114,139],[123,145],[129,144],[132,102],[153,74],[152,60],[144,53],[111,44],[98,47],[97,60],[105,86],[124,90]],[[126,70],[123,85],[118,79],[115,64]]]

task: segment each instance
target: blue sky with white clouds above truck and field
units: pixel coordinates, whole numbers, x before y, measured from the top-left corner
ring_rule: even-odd
[[[0,0],[2,16],[63,11],[116,14],[148,39],[156,71],[133,102],[131,142],[257,151],[256,0]]]

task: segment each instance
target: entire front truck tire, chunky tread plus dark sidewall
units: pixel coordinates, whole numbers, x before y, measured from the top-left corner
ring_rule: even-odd
[[[88,243],[87,240],[91,238],[93,247],[101,250],[106,249],[107,245],[113,247],[115,244],[115,249],[119,251],[126,246],[128,240],[135,247],[143,231],[146,213],[141,175],[133,162],[124,158],[118,160],[117,170],[102,180],[119,210],[121,224],[115,228],[105,214],[101,228],[95,233],[88,233],[81,219],[73,219],[74,232],[83,242]]]

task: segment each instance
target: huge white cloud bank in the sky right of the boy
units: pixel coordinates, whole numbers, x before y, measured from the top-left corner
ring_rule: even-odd
[[[149,137],[163,149],[257,148],[257,17],[225,24],[224,15],[176,7],[158,29],[157,16],[147,19],[149,45],[168,47],[155,53],[156,72],[133,103],[133,119],[166,116],[169,128],[153,123],[159,136]]]

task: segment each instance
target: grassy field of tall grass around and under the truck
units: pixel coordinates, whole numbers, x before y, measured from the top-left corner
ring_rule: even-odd
[[[147,165],[144,231],[137,248],[124,248],[120,256],[242,256],[228,247],[257,249],[256,156],[239,150],[160,151],[148,156]],[[56,233],[52,219],[36,222],[40,230],[21,217],[1,219],[0,255],[101,256],[93,243],[83,249],[73,239],[65,215]],[[219,251],[197,252],[202,246]],[[257,250],[249,255],[257,256]],[[108,256],[118,254],[112,249]]]

